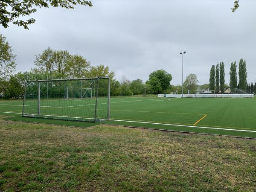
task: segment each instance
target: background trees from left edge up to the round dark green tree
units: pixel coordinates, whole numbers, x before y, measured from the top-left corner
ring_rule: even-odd
[[[53,50],[50,47],[35,55],[34,67],[25,73],[13,74],[16,68],[16,55],[4,36],[0,36],[0,96],[5,99],[22,98],[26,80],[72,79],[108,76],[111,78],[111,96],[159,94],[172,90],[172,75],[165,70],[149,74],[148,80],[130,81],[125,76],[118,81],[108,66],[92,66],[81,55],[71,55],[67,50]]]

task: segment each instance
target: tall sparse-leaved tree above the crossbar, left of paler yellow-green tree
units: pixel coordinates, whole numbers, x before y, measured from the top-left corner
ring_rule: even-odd
[[[73,55],[69,61],[70,76],[73,78],[85,77],[90,69],[90,62],[80,55]]]

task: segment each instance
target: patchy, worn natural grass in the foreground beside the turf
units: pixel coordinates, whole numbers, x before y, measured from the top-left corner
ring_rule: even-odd
[[[0,191],[256,191],[256,140],[0,120]]]

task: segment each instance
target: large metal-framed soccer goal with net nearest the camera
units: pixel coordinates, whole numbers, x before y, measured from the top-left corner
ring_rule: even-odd
[[[110,117],[110,78],[26,81],[22,116],[99,122]]]

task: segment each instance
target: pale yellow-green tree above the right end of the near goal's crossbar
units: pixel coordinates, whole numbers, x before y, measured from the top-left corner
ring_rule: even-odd
[[[110,77],[111,79],[113,79],[114,75],[115,73],[103,64],[91,67],[88,74],[89,77]]]

